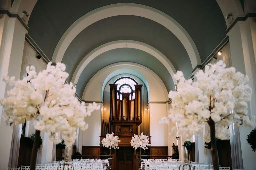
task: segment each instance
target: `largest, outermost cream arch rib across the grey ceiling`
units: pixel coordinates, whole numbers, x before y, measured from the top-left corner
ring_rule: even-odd
[[[52,61],[61,62],[62,57],[66,49],[68,48],[69,44],[86,27],[104,18],[118,15],[140,16],[148,18],[163,25],[168,30],[170,30],[183,44],[190,57],[192,67],[195,68],[197,64],[201,64],[201,59],[195,43],[193,42],[189,34],[186,32],[186,30],[177,21],[175,21],[169,15],[155,8],[131,3],[107,5],[95,9],[79,18],[67,29],[67,31],[59,40],[54,50]]]

